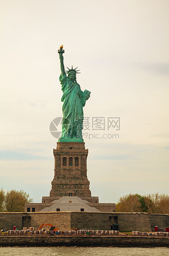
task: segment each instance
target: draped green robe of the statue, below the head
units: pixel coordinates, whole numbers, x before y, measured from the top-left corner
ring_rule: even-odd
[[[61,82],[61,90],[63,96],[61,101],[63,102],[63,121],[62,121],[62,135],[63,138],[82,138],[82,123],[83,123],[83,107],[82,104],[82,90],[80,85],[76,82],[72,82],[64,74],[63,78],[60,75],[59,80]]]

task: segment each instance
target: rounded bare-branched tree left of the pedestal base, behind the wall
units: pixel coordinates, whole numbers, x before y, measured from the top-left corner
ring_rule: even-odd
[[[7,212],[23,212],[25,203],[32,203],[33,198],[29,198],[29,194],[23,190],[8,190],[5,194],[5,211]]]

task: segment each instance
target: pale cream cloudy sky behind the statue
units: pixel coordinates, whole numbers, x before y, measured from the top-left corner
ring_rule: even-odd
[[[65,66],[78,66],[77,83],[91,92],[83,138],[92,196],[169,194],[168,0],[0,0],[0,187],[34,202],[49,196],[62,44]]]

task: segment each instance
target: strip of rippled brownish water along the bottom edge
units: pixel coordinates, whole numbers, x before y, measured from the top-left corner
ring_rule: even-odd
[[[169,248],[0,247],[0,256],[169,256]]]

